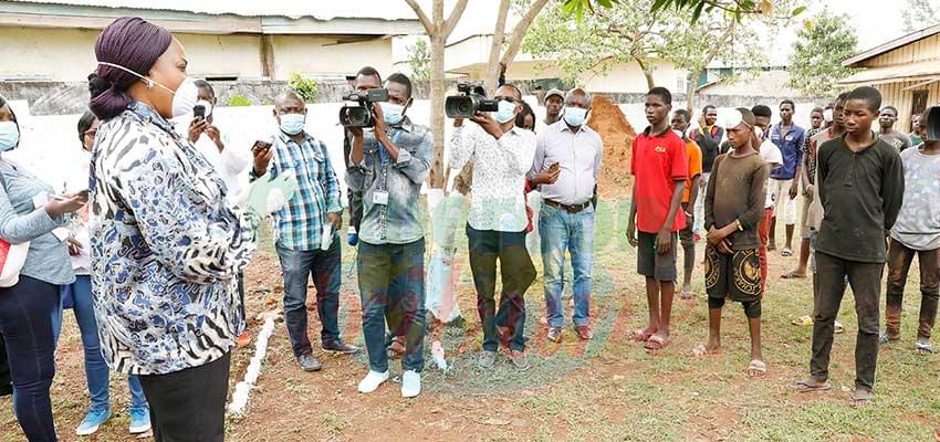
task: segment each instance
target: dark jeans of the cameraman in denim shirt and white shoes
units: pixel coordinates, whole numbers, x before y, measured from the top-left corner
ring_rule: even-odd
[[[420,372],[425,368],[425,240],[385,245],[359,241],[356,266],[369,370],[388,370],[387,320],[393,336],[406,337],[403,367]]]

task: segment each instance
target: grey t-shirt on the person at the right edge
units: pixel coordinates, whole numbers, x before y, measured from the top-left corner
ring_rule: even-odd
[[[891,238],[913,250],[940,249],[940,155],[901,152],[905,200]]]

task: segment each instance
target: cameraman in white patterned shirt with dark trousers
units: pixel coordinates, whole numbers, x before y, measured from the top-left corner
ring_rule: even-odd
[[[470,118],[476,123],[463,127],[453,120],[451,167],[461,169],[473,160],[473,189],[467,236],[470,269],[477,286],[477,305],[483,325],[481,368],[495,362],[500,340],[509,341],[513,365],[529,368],[525,357],[525,299],[523,295],[535,280],[535,267],[525,248],[525,173],[535,156],[535,134],[515,127],[522,110],[522,93],[512,84],[497,90],[499,110],[483,112]],[[502,273],[500,308],[495,306],[497,260]],[[502,339],[497,336],[500,326]]]

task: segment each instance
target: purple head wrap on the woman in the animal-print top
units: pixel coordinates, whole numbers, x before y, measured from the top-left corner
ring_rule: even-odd
[[[145,76],[171,41],[173,34],[165,28],[136,17],[124,17],[98,35],[95,56],[98,62],[121,65]],[[98,64],[88,75],[92,112],[102,120],[121,115],[132,102],[127,88],[139,80],[127,71]]]

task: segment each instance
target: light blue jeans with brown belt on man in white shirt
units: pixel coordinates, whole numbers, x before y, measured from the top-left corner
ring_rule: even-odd
[[[545,309],[550,327],[561,327],[565,322],[562,278],[565,252],[572,256],[574,272],[575,326],[588,325],[591,314],[592,263],[594,261],[594,208],[577,213],[542,204],[539,217],[542,234],[542,262],[545,267]]]

